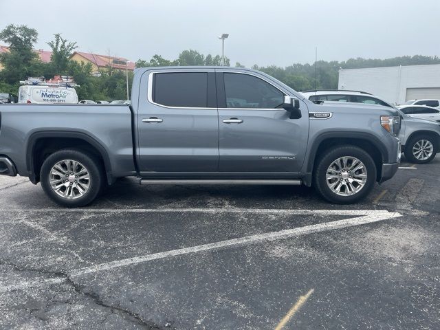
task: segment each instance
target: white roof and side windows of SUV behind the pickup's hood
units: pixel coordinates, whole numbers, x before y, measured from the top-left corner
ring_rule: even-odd
[[[369,93],[364,91],[347,91],[347,90],[314,90],[314,91],[301,91],[301,94],[311,100],[312,102],[319,101],[335,101],[335,102],[355,102],[364,104],[380,104],[385,107],[393,106],[384,100],[380,100]]]

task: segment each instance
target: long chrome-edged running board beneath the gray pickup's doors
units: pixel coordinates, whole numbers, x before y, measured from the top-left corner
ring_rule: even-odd
[[[264,180],[264,179],[248,179],[248,180],[234,180],[234,179],[140,179],[140,184],[270,184],[270,185],[291,185],[300,186],[301,180]]]

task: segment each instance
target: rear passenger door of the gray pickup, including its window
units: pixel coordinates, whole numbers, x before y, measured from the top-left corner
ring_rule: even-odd
[[[214,69],[158,69],[146,74],[148,91],[140,91],[137,115],[141,174],[217,171]]]

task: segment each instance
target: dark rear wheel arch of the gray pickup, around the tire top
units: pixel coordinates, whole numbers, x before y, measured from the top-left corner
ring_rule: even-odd
[[[37,131],[30,135],[26,145],[26,169],[30,181],[40,181],[40,168],[47,153],[61,148],[75,148],[88,151],[100,159],[104,166],[109,184],[113,182],[109,153],[96,138],[78,131]]]

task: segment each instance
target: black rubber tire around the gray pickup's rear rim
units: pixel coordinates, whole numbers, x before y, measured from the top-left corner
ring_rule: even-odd
[[[86,168],[89,174],[89,188],[86,190],[84,195],[75,197],[74,199],[61,197],[57,192],[55,192],[50,184],[50,173],[53,166],[66,159],[72,159],[75,162],[79,162],[83,165],[83,167]],[[75,149],[56,151],[47,157],[47,159],[45,159],[43,162],[43,166],[41,166],[40,180],[41,187],[46,195],[58,205],[65,206],[67,208],[78,208],[88,205],[94,201],[94,199],[96,199],[96,197],[107,184],[104,176],[104,169],[102,168],[100,161],[93,155],[89,155],[88,153]],[[66,185],[68,184],[69,183],[67,182]],[[72,188],[70,189],[72,190]],[[78,195],[80,195],[79,190],[76,191],[78,192]]]

